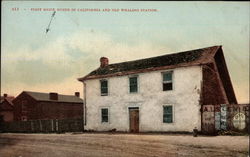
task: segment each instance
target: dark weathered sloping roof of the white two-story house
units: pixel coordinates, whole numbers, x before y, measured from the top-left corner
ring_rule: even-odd
[[[212,46],[152,58],[109,64],[105,67],[97,68],[88,75],[78,78],[78,80],[84,81],[95,78],[122,76],[181,66],[206,64],[212,61],[215,53],[220,47],[221,46]]]

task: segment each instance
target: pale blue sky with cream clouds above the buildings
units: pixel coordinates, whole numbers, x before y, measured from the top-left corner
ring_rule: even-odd
[[[249,102],[249,2],[2,2],[1,92],[82,93],[76,78],[99,66],[222,45],[240,103]],[[18,7],[19,11],[12,11]],[[157,12],[31,8],[157,9]],[[1,94],[2,94],[1,93]]]

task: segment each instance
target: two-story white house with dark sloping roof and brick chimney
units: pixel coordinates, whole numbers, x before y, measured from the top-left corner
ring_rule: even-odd
[[[78,78],[85,130],[191,132],[201,106],[237,103],[221,46],[109,64]]]

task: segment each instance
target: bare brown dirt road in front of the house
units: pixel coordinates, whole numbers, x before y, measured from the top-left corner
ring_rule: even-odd
[[[247,157],[248,136],[0,134],[0,157]]]

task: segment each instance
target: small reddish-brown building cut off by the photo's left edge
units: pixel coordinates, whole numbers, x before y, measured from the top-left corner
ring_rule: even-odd
[[[13,96],[8,96],[4,94],[1,96],[0,101],[0,121],[11,122],[14,119],[13,116]]]

